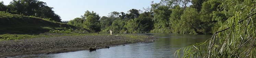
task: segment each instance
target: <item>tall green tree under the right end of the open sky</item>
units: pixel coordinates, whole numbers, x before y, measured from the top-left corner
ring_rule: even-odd
[[[151,4],[152,21],[154,21],[154,29],[151,33],[171,33],[170,15],[172,14],[173,0],[161,0],[160,3]]]

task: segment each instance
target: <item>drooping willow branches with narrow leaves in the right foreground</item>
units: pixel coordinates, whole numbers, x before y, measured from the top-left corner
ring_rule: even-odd
[[[256,58],[256,0],[226,0],[219,7],[228,18],[220,30],[205,42],[177,50],[176,56],[183,50],[183,58]]]

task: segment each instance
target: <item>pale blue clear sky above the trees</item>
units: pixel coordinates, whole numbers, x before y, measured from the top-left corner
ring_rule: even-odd
[[[0,0],[1,1],[1,0]],[[9,5],[12,0],[2,0],[5,5]],[[53,11],[61,17],[61,21],[69,21],[80,17],[85,11],[94,11],[102,16],[108,13],[124,12],[130,9],[140,9],[151,7],[151,2],[159,3],[160,0],[39,0],[47,3],[47,6],[54,7]]]

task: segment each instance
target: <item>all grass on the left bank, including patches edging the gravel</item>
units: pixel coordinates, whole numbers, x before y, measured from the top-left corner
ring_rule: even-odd
[[[89,33],[88,30],[65,23],[36,18],[33,16],[21,16],[9,13],[0,13],[0,41],[30,39],[40,37],[59,36],[83,36],[83,35],[107,35]],[[126,36],[127,40],[143,40],[142,35],[116,35]],[[133,41],[129,41],[133,42]]]

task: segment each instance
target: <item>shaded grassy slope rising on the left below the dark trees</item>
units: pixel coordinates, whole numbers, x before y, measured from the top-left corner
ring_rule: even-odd
[[[2,34],[40,34],[50,30],[64,30],[70,27],[79,30],[80,27],[46,19],[0,13],[0,35]]]

